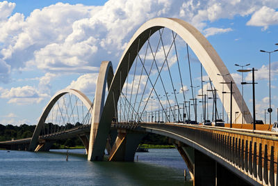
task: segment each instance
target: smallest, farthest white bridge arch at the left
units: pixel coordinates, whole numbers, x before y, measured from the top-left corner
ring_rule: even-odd
[[[45,120],[47,119],[47,116],[49,112],[51,111],[52,107],[54,107],[54,104],[66,93],[72,93],[73,95],[76,95],[81,102],[85,105],[85,107],[90,110],[90,107],[92,106],[92,102],[89,100],[89,98],[81,93],[81,91],[77,91],[75,89],[63,89],[61,91],[58,91],[48,102],[47,107],[45,107],[44,111],[42,112],[42,115],[40,116],[40,121],[38,122],[38,125],[35,127],[35,131],[33,133],[33,137],[31,139],[30,145],[28,147],[28,150],[34,151],[37,144],[38,144],[38,138],[40,135],[40,131],[42,130],[42,127],[44,125]]]

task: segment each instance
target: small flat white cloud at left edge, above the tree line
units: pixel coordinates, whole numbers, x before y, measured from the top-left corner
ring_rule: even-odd
[[[8,103],[15,104],[33,104],[39,103],[44,98],[49,97],[45,93],[40,93],[33,86],[22,86],[16,88],[10,88],[10,90],[6,89],[2,91],[0,98],[9,99]]]

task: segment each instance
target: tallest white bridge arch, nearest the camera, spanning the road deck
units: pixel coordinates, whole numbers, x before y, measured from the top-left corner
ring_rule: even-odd
[[[213,81],[213,85],[216,89],[219,90],[218,95],[222,100],[222,84],[220,84],[220,82],[223,82],[223,79],[224,82],[234,82],[234,79],[231,77],[231,75],[224,76],[223,79],[222,77],[217,75],[228,74],[229,71],[227,70],[227,67],[224,65],[223,61],[220,59],[218,53],[208,42],[208,40],[206,40],[202,33],[195,29],[194,26],[188,24],[187,22],[184,22],[183,20],[179,20],[176,18],[155,18],[153,20],[149,20],[145,24],[142,24],[142,26],[140,26],[140,28],[136,31],[136,33],[129,41],[129,44],[127,45],[124,54],[120,59],[120,63],[117,66],[117,70],[113,78],[113,83],[111,85],[111,92],[108,93],[106,104],[112,104],[112,101],[114,100],[115,102],[117,102],[120,96],[120,87],[123,86],[126,80],[126,75],[129,72],[134,59],[136,58],[138,46],[140,49],[146,42],[147,38],[149,38],[149,36],[163,27],[167,27],[168,29],[176,32],[186,43],[188,43],[190,48],[196,54],[199,61],[204,66],[204,69],[206,70],[208,76]],[[128,65],[128,63],[130,64]],[[127,69],[127,66],[129,66],[129,69]],[[224,90],[230,90],[230,85],[224,84]],[[233,84],[233,92],[233,112],[238,112],[238,119],[239,121],[241,121],[241,117],[243,116],[242,96],[236,84]],[[224,94],[224,100],[230,100],[230,95]],[[243,110],[245,111],[244,122],[251,123],[252,116],[244,101],[243,107]],[[224,102],[224,109],[229,112],[229,101]],[[113,114],[113,107],[107,106],[107,108],[105,108],[104,110],[107,111],[109,114]],[[104,121],[106,121],[106,119],[108,118],[106,116],[106,118],[103,119]]]

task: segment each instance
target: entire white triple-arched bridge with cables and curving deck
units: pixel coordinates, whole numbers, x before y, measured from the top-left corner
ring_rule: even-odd
[[[221,118],[218,99],[229,123],[187,124]],[[79,137],[90,161],[103,161],[105,150],[108,161],[133,161],[140,140],[150,132],[174,144],[195,185],[277,185],[278,134],[268,131],[270,125],[254,125],[254,130],[248,124],[253,120],[202,33],[183,20],[156,18],[134,33],[115,74],[111,61],[101,63],[92,101],[78,90],[58,91],[33,137],[0,141],[0,146],[47,151],[58,139]]]

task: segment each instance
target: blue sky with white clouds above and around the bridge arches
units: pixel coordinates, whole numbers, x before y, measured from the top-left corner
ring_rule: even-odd
[[[52,95],[76,88],[92,99],[101,61],[116,69],[133,33],[154,17],[177,17],[234,64],[256,71],[256,112],[268,109],[268,54],[278,49],[277,0],[0,1],[0,123],[35,125]],[[271,55],[272,121],[277,120],[278,52]],[[251,74],[245,81],[251,81]],[[252,109],[252,89],[245,86]]]

